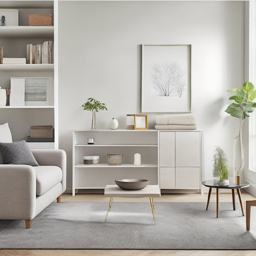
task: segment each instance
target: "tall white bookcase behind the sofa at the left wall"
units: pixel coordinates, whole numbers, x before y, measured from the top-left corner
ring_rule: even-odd
[[[0,123],[8,122],[13,141],[30,135],[32,125],[52,125],[54,143],[30,143],[32,148],[58,148],[58,1],[0,0],[1,8],[19,10],[19,26],[0,26],[0,46],[7,58],[25,58],[26,44],[54,41],[54,64],[0,64],[0,86],[10,89],[11,77],[51,77],[50,106],[1,106]],[[52,26],[28,26],[28,14],[52,14]],[[11,92],[12,93],[12,92]],[[35,147],[34,147],[35,146]]]

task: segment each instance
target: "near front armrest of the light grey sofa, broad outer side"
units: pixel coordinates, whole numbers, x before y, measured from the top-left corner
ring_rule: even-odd
[[[32,166],[0,164],[0,219],[33,219],[36,184]]]

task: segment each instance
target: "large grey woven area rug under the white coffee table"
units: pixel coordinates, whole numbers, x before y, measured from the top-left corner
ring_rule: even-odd
[[[24,220],[0,220],[0,249],[256,249],[256,207],[246,231],[232,203],[52,203],[25,229]]]

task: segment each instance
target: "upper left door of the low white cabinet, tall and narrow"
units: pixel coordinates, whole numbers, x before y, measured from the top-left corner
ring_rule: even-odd
[[[160,132],[160,167],[175,166],[175,133]]]

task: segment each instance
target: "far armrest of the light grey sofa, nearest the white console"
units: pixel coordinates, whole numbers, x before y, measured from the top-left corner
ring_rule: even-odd
[[[31,149],[39,165],[59,166],[62,170],[62,193],[66,190],[67,156],[62,149]]]

